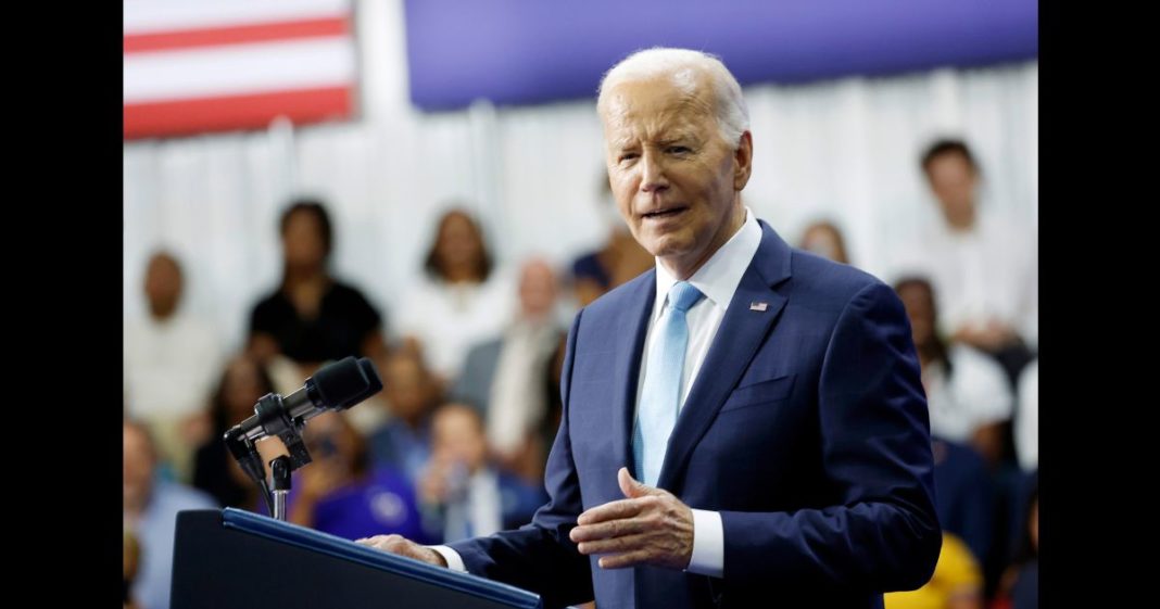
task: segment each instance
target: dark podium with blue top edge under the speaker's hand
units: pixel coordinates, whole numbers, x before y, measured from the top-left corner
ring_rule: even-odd
[[[520,588],[233,508],[177,514],[172,609],[539,609]]]

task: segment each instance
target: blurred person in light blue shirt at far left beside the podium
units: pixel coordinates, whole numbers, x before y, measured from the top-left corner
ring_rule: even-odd
[[[140,544],[132,599],[145,609],[166,609],[177,512],[217,506],[201,491],[157,477],[157,447],[144,425],[125,420],[122,441],[124,529]]]

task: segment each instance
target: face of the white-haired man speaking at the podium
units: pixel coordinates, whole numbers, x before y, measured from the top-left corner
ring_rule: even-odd
[[[623,81],[601,104],[617,208],[632,237],[670,269],[699,267],[732,237],[737,193],[749,177],[748,133],[739,151],[722,140],[712,87],[697,78],[691,94],[667,78]]]

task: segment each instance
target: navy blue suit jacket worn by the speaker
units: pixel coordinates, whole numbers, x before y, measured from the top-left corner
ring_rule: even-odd
[[[761,226],[658,481],[720,513],[724,578],[604,570],[568,539],[585,509],[623,499],[616,472],[632,471],[654,270],[577,314],[550,500],[519,530],[451,544],[470,572],[537,592],[546,607],[595,595],[601,609],[882,607],[883,592],[929,579],[942,535],[906,312],[875,277]]]

